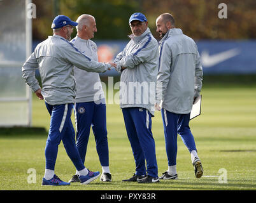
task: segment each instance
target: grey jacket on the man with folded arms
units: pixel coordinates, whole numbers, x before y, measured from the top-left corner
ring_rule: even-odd
[[[120,108],[146,108],[154,115],[158,43],[150,29],[141,36],[130,37],[131,41],[115,58],[117,70],[127,67],[120,78]]]

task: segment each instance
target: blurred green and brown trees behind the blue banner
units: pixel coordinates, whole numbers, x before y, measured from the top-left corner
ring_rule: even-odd
[[[36,4],[33,39],[38,41],[52,35],[50,27],[56,15],[67,15],[76,21],[83,13],[96,18],[94,39],[127,39],[131,34],[129,17],[135,12],[146,15],[148,27],[157,39],[155,19],[162,13],[171,13],[176,27],[193,39],[256,38],[255,0],[32,0],[32,3]],[[220,3],[227,5],[227,18],[218,17]]]

